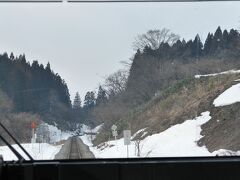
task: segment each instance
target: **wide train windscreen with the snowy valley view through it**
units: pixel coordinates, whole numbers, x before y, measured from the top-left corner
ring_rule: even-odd
[[[239,155],[239,8],[0,0],[0,155]]]

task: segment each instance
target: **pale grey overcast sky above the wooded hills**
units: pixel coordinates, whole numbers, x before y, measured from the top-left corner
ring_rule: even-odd
[[[240,2],[0,3],[0,53],[49,61],[71,96],[79,91],[83,99],[133,56],[137,34],[166,27],[185,39],[197,33],[204,39],[219,25],[239,28],[239,9]]]

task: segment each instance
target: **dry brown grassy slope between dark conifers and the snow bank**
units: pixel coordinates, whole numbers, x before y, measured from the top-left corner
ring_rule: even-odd
[[[148,106],[133,118],[126,118],[126,121],[131,122],[133,133],[146,127],[150,134],[164,131],[209,110],[215,97],[238,78],[240,75],[235,74],[192,79],[175,92],[155,97]]]

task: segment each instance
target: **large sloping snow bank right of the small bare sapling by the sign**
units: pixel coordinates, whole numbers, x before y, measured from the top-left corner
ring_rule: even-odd
[[[199,147],[196,142],[202,137],[201,125],[211,119],[209,112],[193,120],[177,124],[166,131],[148,136],[144,139],[142,148],[144,156],[208,156],[206,147]]]

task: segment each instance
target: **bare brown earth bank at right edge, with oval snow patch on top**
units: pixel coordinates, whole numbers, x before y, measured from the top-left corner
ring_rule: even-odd
[[[211,152],[217,149],[240,150],[239,102],[240,84],[232,85],[213,101],[212,119],[202,126],[204,137],[199,145],[206,145]]]

